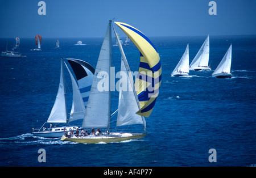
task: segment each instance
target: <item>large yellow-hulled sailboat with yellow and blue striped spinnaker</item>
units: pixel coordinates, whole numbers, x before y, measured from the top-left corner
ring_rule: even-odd
[[[127,86],[129,90],[119,90],[117,126],[140,124],[144,126],[143,133],[110,132],[110,66],[112,65],[112,20],[109,20],[108,29],[101,47],[100,56],[92,88],[90,90],[88,105],[85,111],[83,128],[105,128],[106,132],[101,134],[79,135],[66,137],[63,135],[61,141],[71,141],[79,143],[99,143],[99,142],[121,142],[130,139],[143,138],[146,134],[146,121],[144,117],[151,115],[161,84],[162,66],[159,54],[151,41],[138,29],[125,23],[114,22],[118,27],[130,37],[131,41],[140,51],[141,62],[139,74],[133,81],[130,75],[130,67],[126,60],[122,44],[115,32],[115,37],[121,52],[121,73],[125,78],[122,86]],[[145,72],[147,71],[147,73]],[[146,78],[145,78],[146,77]],[[103,84],[104,83],[104,84]],[[137,86],[136,86],[137,83]],[[154,86],[152,86],[154,84]],[[101,90],[104,85],[105,90]],[[100,86],[100,88],[99,88]]]

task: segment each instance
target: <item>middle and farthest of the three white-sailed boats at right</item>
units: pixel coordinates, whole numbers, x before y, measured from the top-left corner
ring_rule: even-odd
[[[195,58],[189,65],[189,70],[211,70],[208,66],[209,62],[209,51],[210,51],[210,45],[209,45],[209,35],[207,36],[207,39],[205,39],[203,45],[199,49],[199,52],[197,52]]]

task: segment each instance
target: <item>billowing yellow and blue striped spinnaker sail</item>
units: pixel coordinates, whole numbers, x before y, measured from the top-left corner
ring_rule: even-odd
[[[133,41],[141,53],[139,73],[135,80],[139,105],[138,115],[149,117],[158,97],[162,81],[162,66],[154,44],[141,31],[126,23],[115,22]]]

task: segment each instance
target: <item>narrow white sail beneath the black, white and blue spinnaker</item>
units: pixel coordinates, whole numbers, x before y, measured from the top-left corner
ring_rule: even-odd
[[[68,66],[66,63],[65,65],[68,69]],[[68,69],[68,73],[71,77],[72,88],[73,88],[73,102],[72,102],[72,108],[71,108],[71,113],[69,117],[69,122],[71,122],[79,119],[84,119],[85,106],[84,106],[84,101],[82,101],[82,96],[81,96],[79,87],[76,84],[76,80],[69,69]]]

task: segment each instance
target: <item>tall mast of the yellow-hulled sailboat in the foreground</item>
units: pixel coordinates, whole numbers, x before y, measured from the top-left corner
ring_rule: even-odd
[[[111,26],[112,26],[112,20],[109,20],[109,67],[112,66],[112,29],[111,29]],[[110,71],[109,71],[110,72]],[[111,74],[111,72],[110,72]],[[111,76],[109,74],[109,92],[110,92],[110,97],[109,97],[109,122],[108,122],[108,130],[110,132],[110,117],[111,117],[111,90],[110,90],[110,86],[111,86]]]

